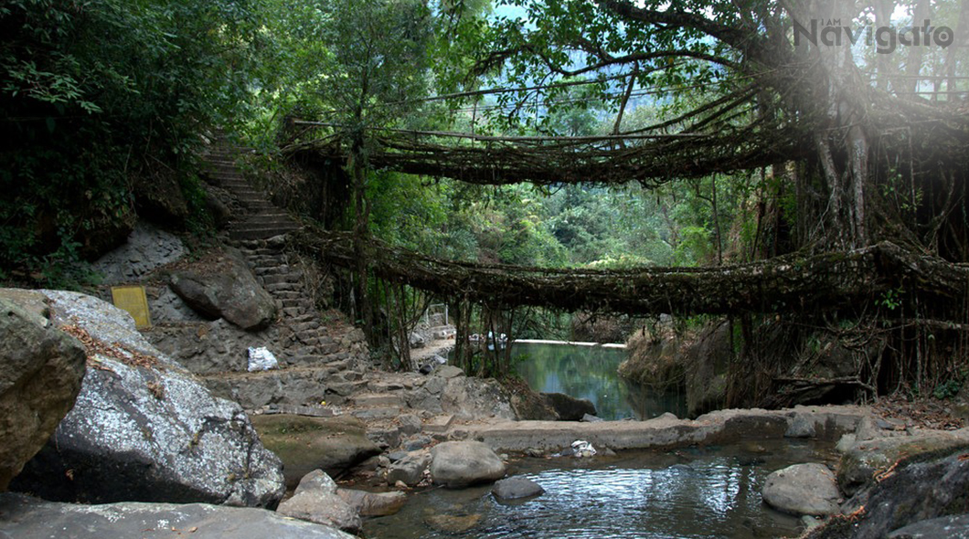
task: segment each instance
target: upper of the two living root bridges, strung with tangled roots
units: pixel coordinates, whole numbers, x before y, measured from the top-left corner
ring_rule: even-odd
[[[442,137],[470,137],[472,141],[435,142]],[[481,185],[638,181],[643,186],[656,187],[674,178],[751,170],[807,155],[803,137],[785,128],[715,135],[573,137],[398,132],[374,135],[372,142],[374,147],[367,159],[374,168]],[[349,145],[340,136],[331,135],[288,151],[342,162],[347,158]]]

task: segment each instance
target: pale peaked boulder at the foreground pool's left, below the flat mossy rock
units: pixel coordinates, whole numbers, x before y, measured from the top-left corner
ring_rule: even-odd
[[[293,497],[280,503],[276,512],[350,533],[359,533],[363,525],[357,510],[336,494],[336,483],[321,469],[306,474]]]

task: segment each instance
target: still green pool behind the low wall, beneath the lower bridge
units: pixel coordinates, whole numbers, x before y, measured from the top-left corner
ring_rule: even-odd
[[[588,399],[603,419],[650,419],[668,411],[686,416],[683,395],[651,391],[616,374],[626,350],[516,343],[512,356],[518,374],[532,389]]]

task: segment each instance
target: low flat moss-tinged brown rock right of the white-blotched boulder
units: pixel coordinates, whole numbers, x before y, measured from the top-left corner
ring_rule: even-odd
[[[252,423],[263,444],[283,461],[290,489],[314,469],[337,477],[382,452],[366,437],[366,426],[353,416],[256,415]]]

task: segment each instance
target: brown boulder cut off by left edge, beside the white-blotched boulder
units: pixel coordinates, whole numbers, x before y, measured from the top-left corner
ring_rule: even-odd
[[[83,345],[50,323],[44,299],[0,290],[0,491],[44,447],[84,376]]]

